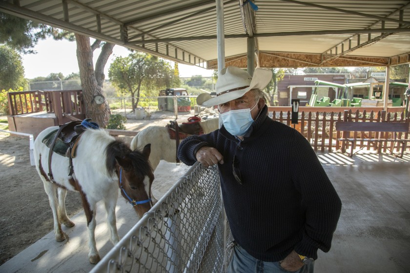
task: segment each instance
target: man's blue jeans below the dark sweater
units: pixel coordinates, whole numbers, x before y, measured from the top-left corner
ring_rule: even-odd
[[[314,262],[292,273],[313,273]],[[289,273],[279,262],[264,262],[252,257],[239,245],[234,246],[227,273]]]

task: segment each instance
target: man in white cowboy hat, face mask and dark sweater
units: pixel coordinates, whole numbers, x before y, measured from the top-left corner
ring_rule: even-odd
[[[267,116],[262,90],[272,72],[253,77],[221,70],[215,98],[222,127],[185,138],[178,157],[187,165],[218,164],[234,247],[228,272],[312,273],[317,251],[328,252],[341,201],[308,140]]]

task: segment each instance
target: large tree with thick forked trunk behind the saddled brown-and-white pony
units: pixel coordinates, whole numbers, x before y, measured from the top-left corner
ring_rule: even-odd
[[[37,41],[47,36],[57,40],[76,41],[85,115],[91,117],[101,127],[105,127],[111,114],[109,105],[107,101],[104,101],[101,105],[94,103],[94,96],[102,95],[102,84],[105,78],[104,66],[115,45],[101,40],[95,40],[91,44],[89,37],[0,13],[0,42],[22,52],[33,53],[32,48]],[[94,67],[93,52],[100,47],[101,53]]]

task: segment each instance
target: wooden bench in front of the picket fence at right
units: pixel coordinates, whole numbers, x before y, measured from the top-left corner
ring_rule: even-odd
[[[410,139],[402,139],[399,138],[400,133],[404,133],[405,137],[408,136],[409,133],[409,122],[358,122],[358,121],[337,121],[335,128],[336,131],[342,131],[343,137],[338,138],[338,140],[343,141],[342,143],[342,152],[346,152],[346,143],[350,143],[350,154],[349,156],[353,156],[353,150],[355,143],[357,141],[366,141],[367,143],[374,143],[375,148],[377,148],[378,153],[381,152],[382,149],[382,142],[393,142],[392,146],[394,147],[394,143],[400,143],[401,144],[401,153],[400,157],[403,157],[404,151],[406,150],[406,144],[407,142],[410,141]],[[350,132],[374,132],[374,133],[385,133],[385,134],[380,134],[379,137],[377,138],[366,138],[366,137],[350,137]],[[391,133],[392,137],[389,137],[389,134]],[[407,133],[407,134],[406,134]],[[378,135],[378,134],[377,134]],[[382,137],[384,135],[384,137]],[[363,146],[361,149],[363,149],[365,146]],[[359,151],[361,150],[359,149]],[[389,151],[391,153],[392,149]],[[357,151],[358,152],[358,151]],[[357,153],[356,152],[356,153]]]

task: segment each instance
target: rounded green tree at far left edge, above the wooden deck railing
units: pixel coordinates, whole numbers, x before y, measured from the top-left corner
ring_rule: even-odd
[[[0,63],[0,89],[17,89],[27,84],[21,57],[16,50],[0,45]]]

